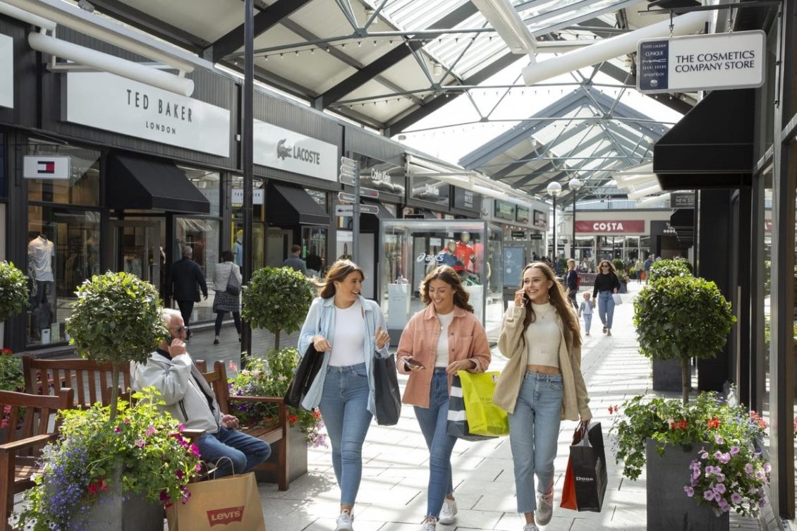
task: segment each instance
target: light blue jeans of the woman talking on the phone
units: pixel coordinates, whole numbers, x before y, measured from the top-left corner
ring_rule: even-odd
[[[533,513],[534,474],[540,494],[553,486],[559,423],[562,414],[562,375],[526,372],[515,412],[509,415],[509,446],[515,464],[517,512]]]

